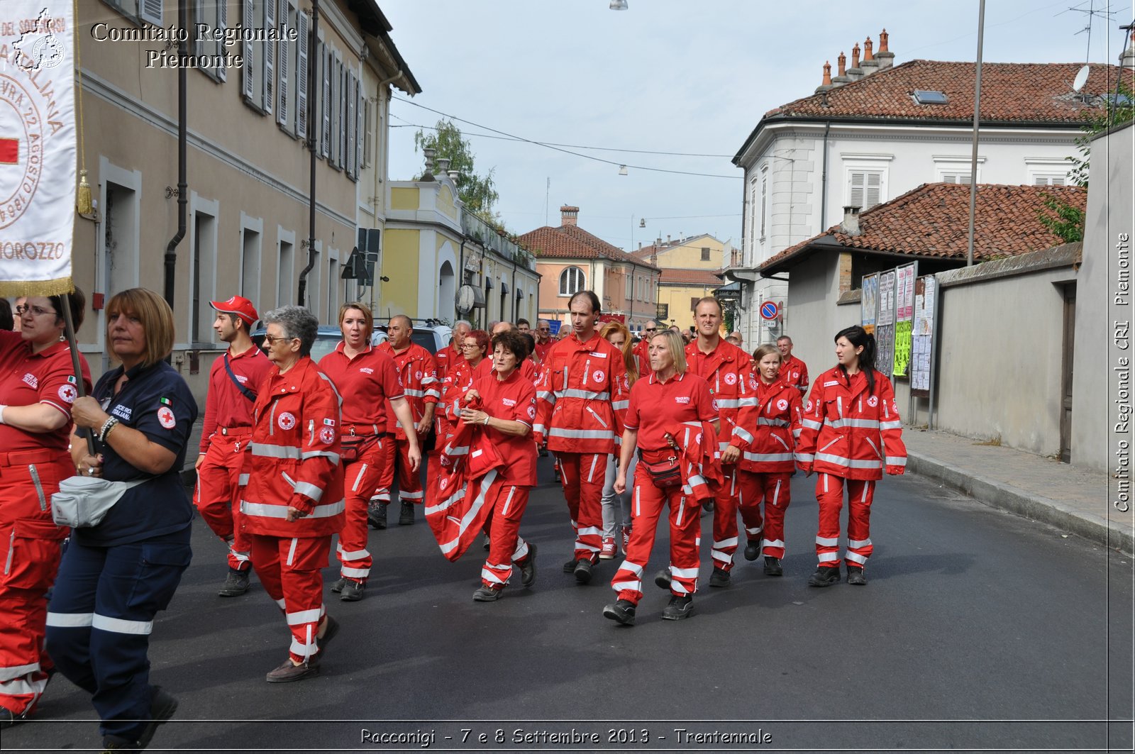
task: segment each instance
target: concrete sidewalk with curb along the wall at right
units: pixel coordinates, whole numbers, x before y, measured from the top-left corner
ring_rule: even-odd
[[[1112,550],[1135,552],[1135,509],[1126,513],[1115,509],[1115,479],[1107,474],[945,432],[905,427],[902,439],[908,471],[992,508]]]

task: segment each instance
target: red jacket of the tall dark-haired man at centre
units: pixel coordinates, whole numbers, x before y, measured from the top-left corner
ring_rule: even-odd
[[[598,332],[586,343],[572,334],[552,346],[544,367],[536,442],[562,453],[614,453],[630,394],[622,352]]]

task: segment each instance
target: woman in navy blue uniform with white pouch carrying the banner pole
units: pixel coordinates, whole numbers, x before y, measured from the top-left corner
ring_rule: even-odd
[[[177,699],[150,684],[154,615],[190,564],[193,506],[179,471],[196,403],[163,360],[174,315],[145,288],[107,304],[107,343],[120,362],[72,408],[72,458],[83,476],[143,480],[94,527],[77,528],[48,606],[48,652],[92,695],[104,749],[145,748]],[[79,434],[82,433],[82,435]],[[86,435],[96,438],[95,455]]]

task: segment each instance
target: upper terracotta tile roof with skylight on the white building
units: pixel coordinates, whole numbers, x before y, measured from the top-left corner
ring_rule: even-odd
[[[982,119],[1006,123],[1076,123],[1096,111],[1100,95],[1115,90],[1117,66],[1092,65],[1082,94],[1071,91],[1078,62],[986,62],[982,65]],[[972,122],[975,62],[910,60],[859,81],[789,102],[766,118],[863,117]],[[1130,74],[1128,73],[1129,77]],[[915,90],[944,92],[945,104],[919,104]],[[826,107],[825,107],[826,94]]]

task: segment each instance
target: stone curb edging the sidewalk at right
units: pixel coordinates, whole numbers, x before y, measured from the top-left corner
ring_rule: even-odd
[[[1135,533],[1129,527],[1108,522],[1102,516],[1071,510],[1057,500],[1018,487],[991,481],[972,472],[920,453],[907,451],[907,470],[941,481],[990,508],[1050,523],[1070,534],[1125,554],[1135,554]]]

